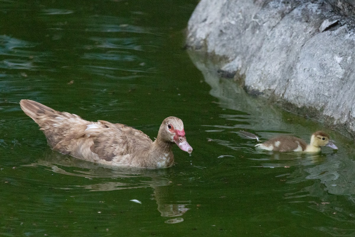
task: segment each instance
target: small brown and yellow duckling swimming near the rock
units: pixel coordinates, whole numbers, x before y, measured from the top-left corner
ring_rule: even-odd
[[[303,151],[303,152],[320,152],[321,147],[328,146],[334,150],[338,147],[330,141],[329,135],[323,131],[316,131],[311,136],[310,144],[295,136],[278,136],[266,142],[256,144],[255,147],[268,151]]]

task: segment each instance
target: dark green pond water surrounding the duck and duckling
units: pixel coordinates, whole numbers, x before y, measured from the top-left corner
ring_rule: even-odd
[[[1,236],[355,236],[353,141],[246,95],[183,50],[197,2],[0,1]],[[177,116],[194,150],[174,147],[162,170],[60,155],[24,98],[151,138]],[[322,129],[339,150],[259,152],[241,129],[307,141]]]

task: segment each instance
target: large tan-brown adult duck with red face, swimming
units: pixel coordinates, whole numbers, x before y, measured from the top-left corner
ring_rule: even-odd
[[[174,144],[191,155],[182,120],[170,116],[152,141],[142,131],[104,120],[89,122],[76,114],[56,111],[22,99],[20,107],[36,122],[49,146],[62,154],[109,166],[166,168],[174,164]]]

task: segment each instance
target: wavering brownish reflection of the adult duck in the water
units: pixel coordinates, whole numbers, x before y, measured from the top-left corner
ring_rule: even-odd
[[[152,195],[157,201],[158,211],[161,216],[164,217],[181,216],[189,210],[189,208],[186,208],[186,205],[189,205],[190,201],[176,201],[178,204],[172,203],[171,196],[174,196],[174,193],[171,194],[169,192],[170,181],[166,178],[168,169],[105,166],[71,156],[61,155],[55,151],[48,151],[45,155],[45,160],[39,160],[36,163],[26,166],[44,166],[56,173],[89,179],[96,178],[95,181],[102,181],[102,179],[97,178],[119,178],[120,180],[120,182],[102,181],[95,184],[75,186],[89,191],[113,191],[151,187],[154,190],[154,194]],[[126,180],[127,182],[124,182]],[[179,220],[178,222],[181,221]]]

